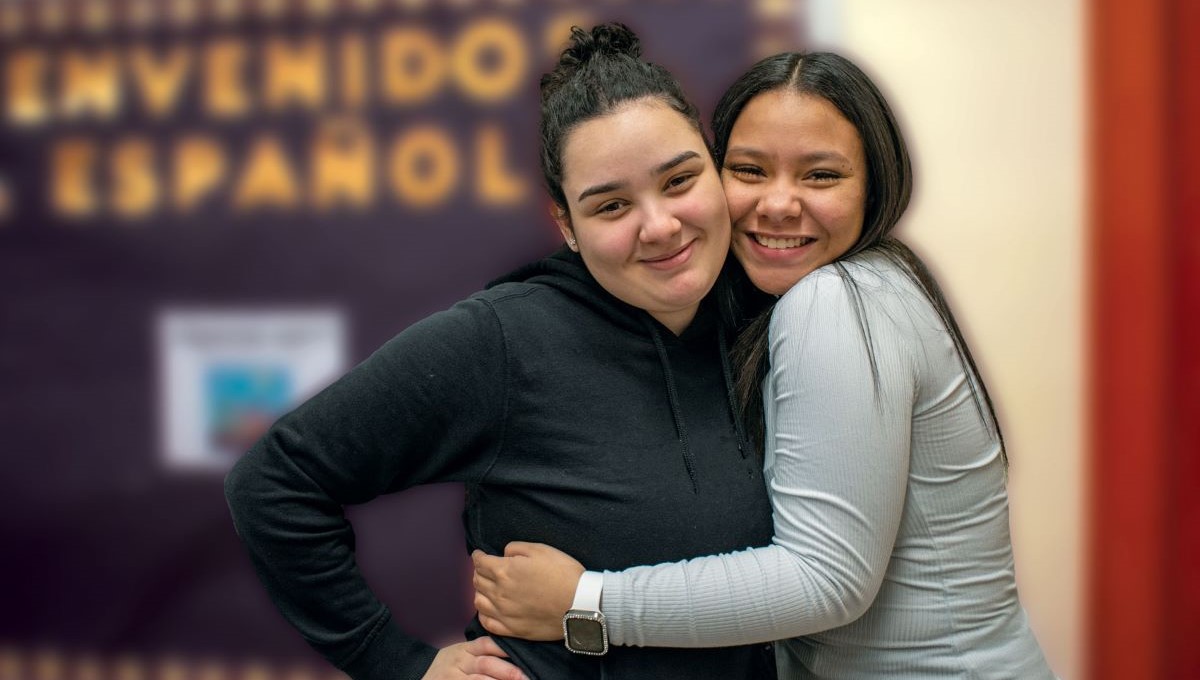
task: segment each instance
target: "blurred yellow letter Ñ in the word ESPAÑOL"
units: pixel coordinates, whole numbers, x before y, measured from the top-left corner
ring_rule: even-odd
[[[360,120],[334,119],[317,128],[312,154],[312,200],[318,210],[337,204],[366,207],[374,198],[374,139]]]

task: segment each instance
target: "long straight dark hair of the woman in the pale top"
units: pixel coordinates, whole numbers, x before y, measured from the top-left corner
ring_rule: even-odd
[[[908,148],[900,133],[892,108],[871,79],[852,61],[828,52],[788,52],[768,56],[750,67],[721,96],[713,114],[713,149],[718,164],[724,164],[730,134],[742,110],[750,100],[764,92],[787,90],[812,95],[833,104],[858,131],[866,158],[866,205],[863,213],[863,230],[858,240],[834,260],[842,281],[851,287],[852,300],[858,305],[858,318],[866,343],[871,368],[878,379],[875,353],[870,343],[870,329],[860,306],[857,284],[850,277],[841,260],[863,251],[872,249],[884,254],[905,272],[937,309],[954,341],[959,359],[973,378],[968,380],[976,407],[986,426],[1000,440],[1001,455],[1006,464],[1004,438],[1000,432],[996,410],[988,387],[979,375],[962,331],[942,295],[937,281],[925,264],[905,243],[892,236],[900,217],[908,207],[912,195],[912,162]],[[770,308],[762,312],[742,333],[734,345],[734,365],[738,369],[738,397],[743,416],[755,443],[764,441],[764,411],[761,398],[762,380],[767,374]],[[986,415],[985,415],[986,414]]]

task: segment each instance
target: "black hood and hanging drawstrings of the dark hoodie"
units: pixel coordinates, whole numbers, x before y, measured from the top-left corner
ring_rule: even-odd
[[[721,276],[725,275],[722,273]],[[600,285],[595,277],[592,276],[592,272],[588,271],[587,265],[583,263],[583,258],[566,246],[560,247],[550,257],[524,265],[492,281],[487,284],[487,288],[493,288],[504,283],[536,283],[548,285],[563,291],[565,295],[576,300],[581,305],[600,313],[611,320],[618,329],[647,337],[654,343],[654,349],[659,356],[659,366],[662,371],[667,405],[671,409],[671,416],[676,426],[679,452],[688,468],[688,475],[691,479],[692,491],[696,493],[698,493],[696,483],[696,462],[689,445],[688,426],[683,416],[683,409],[679,405],[678,385],[671,369],[671,359],[667,348],[672,343],[703,342],[706,338],[712,338],[712,336],[715,335],[720,354],[720,367],[714,368],[719,368],[721,371],[725,380],[727,410],[730,419],[733,421],[734,432],[737,433],[738,453],[743,458],[746,457],[749,445],[746,443],[745,431],[737,408],[737,397],[733,386],[733,369],[730,365],[727,331],[724,327],[724,324],[719,320],[716,302],[714,300],[715,294],[713,291],[710,291],[704,300],[701,301],[700,308],[696,311],[696,318],[692,319],[691,324],[688,325],[680,336],[676,336],[644,309],[635,307],[608,293],[608,290]]]

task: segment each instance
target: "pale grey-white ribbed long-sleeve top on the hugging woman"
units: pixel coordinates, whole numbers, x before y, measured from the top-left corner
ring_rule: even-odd
[[[821,267],[770,321],[773,544],[605,572],[612,642],[782,640],[782,679],[1054,678],[1016,596],[1000,443],[952,336],[883,254],[842,266],[856,285]]]

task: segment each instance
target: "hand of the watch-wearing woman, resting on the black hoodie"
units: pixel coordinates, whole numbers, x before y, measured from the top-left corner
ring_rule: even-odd
[[[497,636],[528,640],[563,639],[563,614],[575,601],[583,565],[542,543],[515,541],[504,556],[481,550],[475,562],[475,609],[479,621]]]

